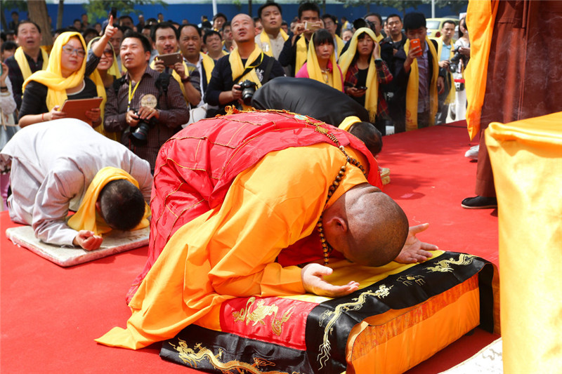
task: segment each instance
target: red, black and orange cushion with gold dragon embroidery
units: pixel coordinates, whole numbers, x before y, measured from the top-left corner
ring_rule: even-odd
[[[360,282],[343,298],[237,298],[162,345],[170,361],[211,373],[403,373],[476,326],[493,330],[494,266],[436,251],[416,265],[335,262]]]

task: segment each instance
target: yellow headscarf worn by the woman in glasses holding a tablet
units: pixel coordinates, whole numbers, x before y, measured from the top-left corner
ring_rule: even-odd
[[[27,86],[30,81],[36,81],[48,87],[46,104],[49,111],[56,105],[63,105],[63,102],[67,99],[67,88],[76,87],[84,82],[86,57],[82,59],[81,67],[70,74],[67,78],[63,77],[61,73],[62,69],[60,68],[60,62],[63,54],[63,46],[68,43],[70,38],[79,39],[82,44],[82,48],[86,51],[86,43],[79,32],[63,32],[63,34],[60,34],[55,40],[55,44],[53,44],[51,57],[48,59],[47,69],[34,72],[25,80],[25,82],[23,82],[23,90],[25,90],[25,86]]]

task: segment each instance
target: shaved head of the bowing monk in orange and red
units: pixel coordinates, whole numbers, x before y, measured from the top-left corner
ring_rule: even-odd
[[[324,213],[326,239],[345,257],[365,266],[382,266],[398,256],[408,234],[407,217],[377,187],[353,187]]]

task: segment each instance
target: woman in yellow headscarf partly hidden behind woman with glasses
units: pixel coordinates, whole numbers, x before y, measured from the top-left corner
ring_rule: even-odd
[[[98,47],[99,45],[103,45],[103,39],[97,37],[90,41],[88,44],[88,53],[89,57],[91,53],[95,53],[94,48]],[[91,52],[92,51],[92,52]],[[113,50],[113,46],[111,43],[105,43],[105,48],[103,49],[103,53],[99,58],[98,67],[92,74],[90,74],[89,78],[96,84],[96,88],[98,90],[98,96],[103,98],[103,101],[100,105],[101,111],[101,118],[103,119],[103,114],[105,112],[105,102],[107,101],[107,95],[105,94],[106,89],[112,89],[113,81],[115,79],[119,79],[121,77],[121,73],[119,72],[119,67],[117,66],[117,58],[115,56],[115,51]],[[101,121],[99,126],[94,127],[98,133],[105,135],[107,138],[110,138],[115,141],[119,141],[121,139],[120,132],[112,132],[106,131],[103,126],[103,121]]]

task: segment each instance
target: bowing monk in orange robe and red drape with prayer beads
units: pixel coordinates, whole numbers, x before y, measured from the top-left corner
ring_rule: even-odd
[[[357,290],[323,279],[330,256],[370,266],[431,257],[425,250],[436,247],[414,236],[425,227],[409,235],[402,209],[374,185],[377,163],[365,145],[306,116],[244,112],[188,126],[159,152],[155,262],[129,303],[133,314],[125,330],[97,341],[146,347],[240,296]],[[325,265],[291,264],[312,260]]]

